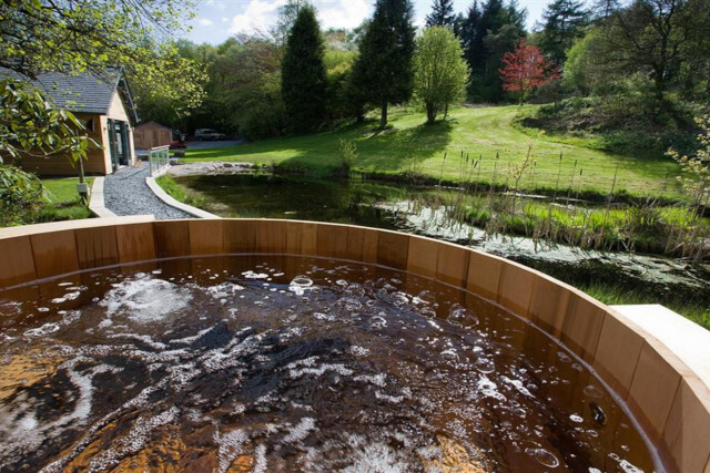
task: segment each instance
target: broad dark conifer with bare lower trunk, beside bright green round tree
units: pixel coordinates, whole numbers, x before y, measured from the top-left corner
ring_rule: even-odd
[[[413,91],[415,29],[409,0],[377,0],[353,70],[352,96],[381,106],[379,125],[387,125],[389,104],[404,103]]]

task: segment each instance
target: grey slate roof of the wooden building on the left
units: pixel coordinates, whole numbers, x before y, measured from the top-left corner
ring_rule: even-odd
[[[102,115],[109,112],[113,93],[122,79],[119,70],[110,70],[105,72],[103,78],[98,78],[88,72],[78,75],[45,72],[39,74],[37,80],[30,80],[18,72],[4,68],[0,68],[0,76],[32,82],[44,92],[58,109],[74,113],[99,113]],[[131,107],[126,106],[129,113],[132,113]]]

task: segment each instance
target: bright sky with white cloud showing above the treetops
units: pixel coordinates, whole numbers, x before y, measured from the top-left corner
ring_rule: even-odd
[[[528,10],[528,29],[540,19],[551,0],[519,0]],[[454,0],[456,11],[465,11],[473,0]],[[221,43],[239,32],[266,30],[274,24],[278,7],[285,0],[197,0],[196,17],[186,38],[195,42]],[[354,28],[372,14],[374,0],[313,0],[324,28]],[[432,10],[432,0],[414,0],[416,21]]]

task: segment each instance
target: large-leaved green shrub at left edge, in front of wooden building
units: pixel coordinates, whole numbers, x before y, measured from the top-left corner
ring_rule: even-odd
[[[0,81],[0,163],[3,156],[83,160],[90,146],[99,146],[83,130],[71,112],[55,110],[31,84]]]

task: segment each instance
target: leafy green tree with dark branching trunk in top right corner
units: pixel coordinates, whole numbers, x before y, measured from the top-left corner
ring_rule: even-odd
[[[662,101],[683,63],[710,55],[709,29],[708,0],[636,0],[604,23],[598,60],[618,73],[647,74]]]

